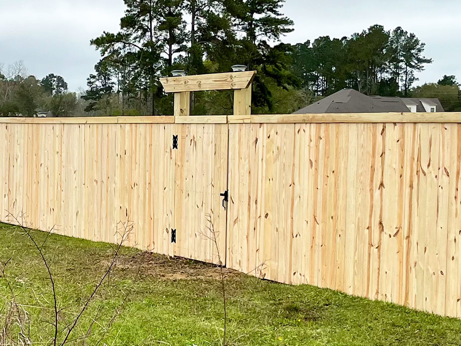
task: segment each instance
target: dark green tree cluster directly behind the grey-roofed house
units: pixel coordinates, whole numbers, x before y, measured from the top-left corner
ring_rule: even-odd
[[[293,61],[304,87],[325,96],[342,88],[367,95],[408,96],[432,59],[423,56],[425,44],[401,27],[386,31],[373,25],[341,39],[323,36],[295,46]]]

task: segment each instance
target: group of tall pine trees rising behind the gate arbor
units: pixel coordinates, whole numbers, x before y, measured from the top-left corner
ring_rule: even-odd
[[[280,9],[283,0],[125,0],[127,9],[118,33],[104,32],[91,40],[108,65],[109,75],[117,81],[117,93],[129,107],[139,105],[151,113],[168,114],[172,110],[159,83],[160,75],[174,68],[189,73],[230,71],[230,66],[246,64],[258,70],[254,82],[254,105],[273,111],[272,93],[297,85],[290,69],[291,57],[287,44],[271,46],[268,40],[279,40],[292,31],[293,22]],[[187,29],[186,15],[191,16]],[[136,58],[133,58],[136,57]],[[205,63],[205,58],[209,63]],[[212,67],[207,68],[208,67]],[[91,79],[95,79],[91,76]],[[262,81],[265,81],[264,83]],[[276,85],[268,88],[265,83]],[[96,110],[99,93],[94,82],[85,97],[94,98],[88,111]],[[127,94],[142,94],[132,98]],[[148,95],[149,94],[149,95]],[[193,97],[192,112],[199,100],[207,102],[211,94]],[[216,94],[217,95],[217,94]],[[217,96],[224,102],[214,109],[227,109],[229,98]],[[206,113],[213,112],[209,109]]]

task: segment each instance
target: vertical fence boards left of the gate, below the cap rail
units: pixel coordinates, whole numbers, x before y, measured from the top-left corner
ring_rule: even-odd
[[[0,220],[173,255],[174,124],[0,124]]]

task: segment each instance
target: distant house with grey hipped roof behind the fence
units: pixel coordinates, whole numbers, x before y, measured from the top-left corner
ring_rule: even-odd
[[[343,89],[293,114],[307,113],[388,113],[444,112],[437,98],[367,96],[354,89]]]

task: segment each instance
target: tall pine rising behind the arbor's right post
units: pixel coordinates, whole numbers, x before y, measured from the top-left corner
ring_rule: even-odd
[[[288,44],[271,46],[269,41],[279,41],[293,30],[293,21],[283,16],[280,9],[284,0],[224,0],[229,20],[224,44],[233,48],[227,54],[227,65],[244,64],[257,70],[253,89],[253,110],[273,111],[272,93],[297,85],[291,73],[292,48]],[[231,32],[231,34],[229,33]],[[216,54],[214,55],[216,59]],[[230,59],[229,59],[230,58]]]

